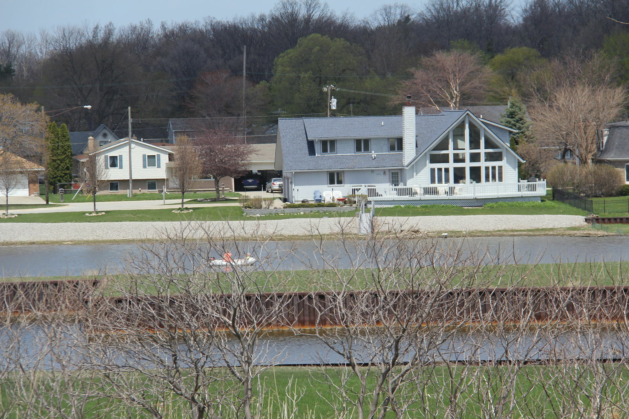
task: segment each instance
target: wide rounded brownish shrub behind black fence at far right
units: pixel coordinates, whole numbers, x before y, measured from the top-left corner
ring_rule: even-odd
[[[557,164],[547,177],[548,186],[585,196],[614,196],[625,183],[621,170],[608,164]]]

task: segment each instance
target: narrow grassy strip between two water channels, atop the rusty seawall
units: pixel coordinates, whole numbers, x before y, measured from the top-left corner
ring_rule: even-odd
[[[370,289],[374,282],[392,282],[408,276],[407,268],[319,269],[315,271],[259,271],[259,267],[238,270],[251,289],[260,292],[338,290],[345,282],[349,289]],[[220,291],[214,284],[228,284],[233,274],[217,268],[213,272],[194,272],[189,276],[174,275],[169,279],[138,274],[103,276],[7,277],[0,281],[52,281],[62,279],[103,279],[104,291],[120,294],[123,289],[136,289],[143,294],[159,294],[168,290],[178,293],[189,286],[207,291]],[[629,285],[629,262],[595,262],[575,264],[483,265],[475,267],[426,267],[413,271],[417,287],[433,283],[435,277],[448,278],[450,287],[509,286],[620,286]],[[194,284],[194,285],[193,285]]]

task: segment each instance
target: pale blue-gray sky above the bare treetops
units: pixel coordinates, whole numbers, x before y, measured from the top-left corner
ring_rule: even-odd
[[[156,26],[161,21],[203,20],[205,16],[231,19],[250,13],[269,11],[276,0],[0,0],[0,31],[38,31],[55,25],[108,23],[116,26],[150,19]],[[335,0],[328,1],[336,11],[348,10],[364,18],[382,4],[395,0]],[[398,3],[403,3],[399,2]],[[411,5],[423,0],[408,2]]]

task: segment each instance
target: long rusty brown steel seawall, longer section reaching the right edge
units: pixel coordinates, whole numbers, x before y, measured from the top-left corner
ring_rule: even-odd
[[[384,323],[626,323],[629,287],[491,288],[344,293],[204,294],[92,299],[116,327],[265,330]]]

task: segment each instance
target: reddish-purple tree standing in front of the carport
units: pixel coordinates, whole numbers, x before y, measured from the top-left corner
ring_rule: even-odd
[[[238,177],[249,168],[249,156],[253,150],[245,144],[242,137],[235,137],[233,130],[226,125],[203,128],[194,138],[203,173],[212,176],[216,198],[220,198],[220,180],[222,177]]]

